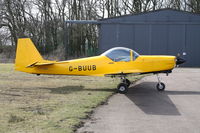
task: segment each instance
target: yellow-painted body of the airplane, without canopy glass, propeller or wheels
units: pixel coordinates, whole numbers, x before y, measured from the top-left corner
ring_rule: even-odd
[[[29,38],[18,39],[15,70],[32,74],[62,74],[104,76],[119,73],[145,73],[171,70],[175,56],[142,56],[131,61],[114,62],[106,56],[94,56],[68,61],[44,60]]]

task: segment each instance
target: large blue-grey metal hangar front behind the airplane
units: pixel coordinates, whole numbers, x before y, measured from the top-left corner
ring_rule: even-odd
[[[166,9],[100,21],[100,52],[122,46],[147,55],[179,53],[184,66],[200,67],[200,15]]]

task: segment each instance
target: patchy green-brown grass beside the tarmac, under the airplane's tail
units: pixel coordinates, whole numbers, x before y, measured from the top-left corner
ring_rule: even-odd
[[[119,83],[108,77],[36,76],[13,67],[0,64],[0,133],[74,132]]]

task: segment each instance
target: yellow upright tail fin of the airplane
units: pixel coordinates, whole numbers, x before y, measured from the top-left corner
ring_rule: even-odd
[[[15,69],[23,71],[25,67],[42,61],[43,58],[30,38],[21,38],[17,42]]]

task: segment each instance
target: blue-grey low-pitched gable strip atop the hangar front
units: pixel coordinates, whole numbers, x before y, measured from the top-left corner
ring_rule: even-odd
[[[175,9],[159,9],[155,11],[142,12],[136,14],[128,14],[118,17],[111,17],[105,19],[99,19],[100,23],[111,22],[198,22],[200,23],[200,14],[191,13],[187,11],[180,11]]]

